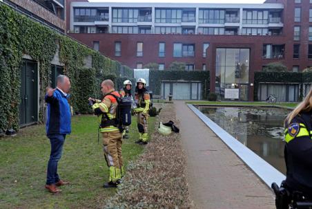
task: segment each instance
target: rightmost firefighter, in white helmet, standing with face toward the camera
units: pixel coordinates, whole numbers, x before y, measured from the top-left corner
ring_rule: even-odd
[[[139,140],[135,143],[146,145],[148,143],[148,110],[150,108],[150,94],[146,89],[146,81],[143,78],[137,80],[135,92],[135,100],[137,108],[137,129],[139,129]]]

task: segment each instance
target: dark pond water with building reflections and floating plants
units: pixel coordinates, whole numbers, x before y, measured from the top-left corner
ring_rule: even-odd
[[[197,107],[234,138],[286,174],[284,118],[289,110],[269,107]]]

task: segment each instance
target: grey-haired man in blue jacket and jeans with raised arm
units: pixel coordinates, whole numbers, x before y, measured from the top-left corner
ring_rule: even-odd
[[[68,92],[70,80],[66,75],[57,77],[57,88],[46,89],[46,102],[48,103],[46,134],[50,139],[51,152],[48,161],[48,172],[46,179],[46,189],[49,192],[61,192],[59,186],[68,182],[62,181],[57,174],[57,163],[61,158],[61,153],[66,138],[70,134],[70,105],[68,104]]]

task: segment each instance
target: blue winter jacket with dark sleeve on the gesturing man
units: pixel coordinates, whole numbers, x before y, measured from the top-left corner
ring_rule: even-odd
[[[46,134],[70,134],[70,105],[68,104],[68,96],[55,90],[52,96],[46,95],[48,103]]]

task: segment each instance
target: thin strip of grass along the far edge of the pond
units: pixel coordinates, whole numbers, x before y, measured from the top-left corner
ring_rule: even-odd
[[[211,102],[211,101],[196,101],[196,102],[192,102],[192,101],[188,101],[186,102],[188,104],[195,104],[195,105],[233,105],[233,106],[237,106],[237,105],[252,105],[252,106],[282,106],[282,107],[296,107],[298,105],[297,102],[276,102],[276,104],[272,104],[272,103],[268,103],[268,102]]]

